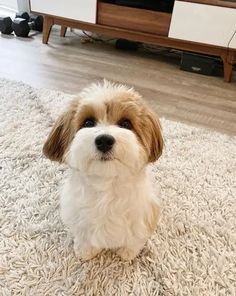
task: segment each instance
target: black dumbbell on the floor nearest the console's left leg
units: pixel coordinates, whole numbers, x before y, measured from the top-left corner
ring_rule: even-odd
[[[13,21],[12,28],[18,37],[27,37],[30,30],[42,32],[43,17],[41,15],[31,16],[30,22],[23,18],[16,18]]]

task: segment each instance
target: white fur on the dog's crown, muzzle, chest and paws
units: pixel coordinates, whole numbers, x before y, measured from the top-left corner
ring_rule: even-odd
[[[101,107],[114,92],[111,85],[96,85],[81,94]],[[131,91],[131,90],[129,90]],[[97,135],[112,135],[116,143],[109,161],[101,161],[94,140]],[[144,246],[150,231],[151,207],[158,205],[147,169],[146,153],[131,130],[111,125],[106,118],[93,128],[80,129],[68,149],[65,161],[70,175],[61,194],[61,215],[74,237],[75,252],[90,259],[102,249],[117,249],[123,259],[133,259]]]

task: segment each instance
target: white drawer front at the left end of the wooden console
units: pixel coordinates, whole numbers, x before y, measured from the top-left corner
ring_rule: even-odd
[[[31,0],[31,10],[88,23],[96,23],[97,0]]]

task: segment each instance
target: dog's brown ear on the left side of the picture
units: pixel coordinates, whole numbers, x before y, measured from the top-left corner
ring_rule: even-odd
[[[78,101],[72,101],[67,110],[56,120],[43,146],[43,153],[50,160],[63,162],[63,156],[76,133],[73,120],[77,108]]]

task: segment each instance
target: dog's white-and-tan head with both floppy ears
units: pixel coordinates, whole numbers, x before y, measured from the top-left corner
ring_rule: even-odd
[[[71,102],[43,148],[87,175],[134,173],[159,158],[163,139],[156,116],[133,89],[94,84]]]

